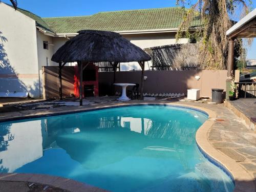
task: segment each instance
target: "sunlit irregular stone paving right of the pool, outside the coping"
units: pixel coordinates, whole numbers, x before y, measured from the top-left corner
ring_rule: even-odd
[[[256,187],[256,133],[223,104],[189,104],[217,113],[217,119],[208,133],[208,141],[217,150],[244,167],[254,178]]]

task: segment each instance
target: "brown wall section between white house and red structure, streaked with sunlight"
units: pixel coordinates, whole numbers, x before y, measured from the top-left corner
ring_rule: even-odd
[[[58,98],[58,67],[45,66],[43,67],[43,96],[46,99]],[[65,66],[62,68],[62,95],[63,97],[70,96],[74,93],[74,74],[73,66]]]

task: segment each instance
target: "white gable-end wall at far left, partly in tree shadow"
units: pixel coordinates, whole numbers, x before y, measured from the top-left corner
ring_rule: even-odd
[[[0,53],[0,92],[38,97],[35,20],[4,3],[0,4]]]

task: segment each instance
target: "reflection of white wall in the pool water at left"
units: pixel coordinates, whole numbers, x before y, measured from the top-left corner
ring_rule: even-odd
[[[41,120],[12,123],[9,131],[4,136],[4,141],[8,141],[7,150],[0,152],[0,160],[11,173],[42,157]]]

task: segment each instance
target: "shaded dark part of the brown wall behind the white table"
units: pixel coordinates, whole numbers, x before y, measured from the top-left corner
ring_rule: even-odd
[[[196,81],[195,76],[200,71],[145,71],[144,93],[187,93],[187,89],[198,89],[194,84],[189,84],[190,80]],[[99,83],[113,82],[114,73],[100,72]],[[141,71],[122,71],[116,73],[117,83],[139,83],[141,85]],[[198,83],[199,87],[199,82]],[[127,87],[131,90],[133,87]],[[140,88],[139,88],[140,89]],[[119,86],[115,86],[115,92],[121,92]]]

